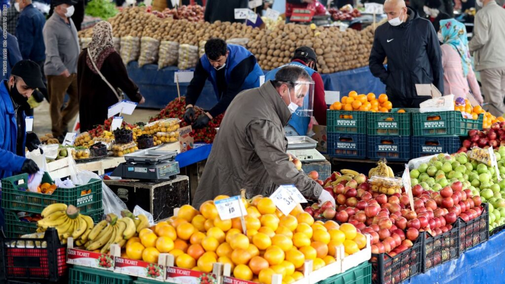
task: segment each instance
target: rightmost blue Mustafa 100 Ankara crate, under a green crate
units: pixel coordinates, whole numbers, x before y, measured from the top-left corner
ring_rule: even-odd
[[[439,153],[456,153],[461,147],[459,136],[412,136],[412,157],[424,157]]]

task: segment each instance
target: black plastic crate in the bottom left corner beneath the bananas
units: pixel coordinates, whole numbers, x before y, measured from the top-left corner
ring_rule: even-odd
[[[32,248],[24,247],[28,242]],[[0,280],[55,282],[66,274],[67,246],[60,243],[56,229],[49,228],[43,239],[6,238],[0,233]]]

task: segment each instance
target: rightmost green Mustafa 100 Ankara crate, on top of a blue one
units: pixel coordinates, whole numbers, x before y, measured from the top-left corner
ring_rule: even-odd
[[[484,115],[478,119],[463,118],[459,111],[413,113],[414,136],[468,135],[472,129],[481,129]]]

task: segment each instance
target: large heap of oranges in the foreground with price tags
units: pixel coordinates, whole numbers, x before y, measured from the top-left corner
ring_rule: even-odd
[[[366,246],[365,235],[352,224],[314,221],[299,204],[285,216],[266,197],[242,200],[244,234],[240,218],[221,220],[214,201],[199,210],[184,205],[168,221],[141,230],[128,240],[123,256],[156,263],[160,253],[170,253],[177,267],[211,272],[220,262],[230,264],[236,278],[270,284],[273,274],[281,274],[288,284],[303,277],[305,260],[313,260],[317,270],[335,262],[340,245],[346,256]]]

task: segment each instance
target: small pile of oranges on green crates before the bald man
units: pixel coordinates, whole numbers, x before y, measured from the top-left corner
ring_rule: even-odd
[[[348,96],[342,97],[340,102],[335,102],[330,106],[330,110],[336,111],[389,112],[392,108],[393,105],[388,101],[385,93],[381,93],[376,98],[373,92],[358,94],[356,91],[350,91]]]

